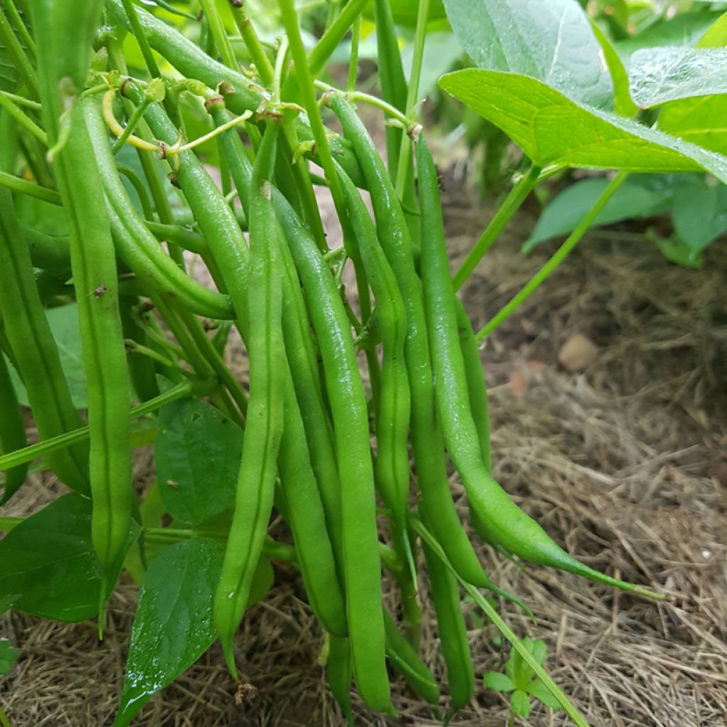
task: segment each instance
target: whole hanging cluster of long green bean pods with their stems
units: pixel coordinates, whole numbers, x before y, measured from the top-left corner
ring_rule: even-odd
[[[470,702],[475,686],[460,586],[491,590],[529,613],[483,569],[452,497],[451,469],[465,486],[473,527],[495,550],[654,594],[571,557],[493,477],[481,359],[450,276],[435,164],[421,129],[403,123],[415,92],[407,92],[394,52],[389,4],[374,3],[385,96],[379,105],[399,121],[387,127],[388,165],[352,103],[356,94],[329,89],[318,100],[310,76],[364,2],[351,0],[306,58],[292,3],[281,1],[290,57],[283,44],[275,59],[241,3],[232,4],[256,63],[245,73],[211,3],[203,4],[212,17],[201,49],[131,2],[94,0],[80,12],[72,0],[28,0],[37,63],[23,74],[43,129],[28,121],[47,140],[49,183],[19,180],[13,188],[41,190],[33,193],[60,204],[69,234],[26,230],[12,193],[0,188],[0,347],[28,393],[41,439],[33,451],[47,443],[55,475],[92,497],[104,577],[123,558],[137,508],[133,394],[151,411],[155,402],[203,392],[244,430],[212,610],[230,672],[236,675],[236,631],[276,511],[289,526],[345,718],[352,720],[353,682],[371,710],[396,714],[389,665],[435,710],[444,704],[444,680],[419,654],[421,609],[430,606],[419,596],[425,579],[451,713]],[[120,52],[127,30],[137,33],[152,80],[129,76]],[[92,58],[94,42],[103,48]],[[174,79],[160,81],[152,49],[176,69]],[[196,152],[199,140],[185,138],[183,94],[201,97],[209,113],[204,140],[219,147],[222,190]],[[342,135],[324,129],[324,107]],[[143,179],[118,163],[125,144],[136,147]],[[343,230],[340,249],[326,244],[305,155],[324,168]],[[177,209],[160,170],[178,190]],[[12,165],[4,171],[14,173]],[[360,188],[370,194],[373,217]],[[201,256],[217,289],[188,275],[183,248]],[[344,283],[347,260],[353,291]],[[37,268],[44,272],[36,278]],[[80,437],[69,434],[83,421],[44,316],[61,291],[79,308],[89,388],[87,435]],[[231,326],[249,358],[245,381],[224,361]],[[160,375],[176,385],[166,394]],[[59,444],[64,438],[73,444]],[[0,464],[12,463],[4,467],[0,504],[25,481],[30,456],[16,452],[25,444],[0,356]],[[398,590],[398,602],[387,590]]]

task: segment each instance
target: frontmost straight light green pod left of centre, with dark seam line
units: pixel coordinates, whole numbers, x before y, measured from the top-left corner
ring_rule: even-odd
[[[285,350],[281,271],[270,176],[278,127],[269,122],[255,161],[250,192],[250,398],[235,512],[214,594],[213,616],[225,658],[236,677],[233,637],[249,599],[273,508],[276,460],[283,435]]]

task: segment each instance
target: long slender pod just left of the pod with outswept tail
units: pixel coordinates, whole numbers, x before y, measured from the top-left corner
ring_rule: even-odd
[[[436,419],[422,286],[414,268],[411,240],[401,204],[377,149],[353,108],[337,95],[331,97],[330,103],[361,160],[361,168],[371,190],[379,241],[406,305],[404,353],[411,389],[411,445],[417,467],[417,483],[422,492],[419,505],[422,517],[433,529],[462,578],[484,587],[489,584],[489,579],[467,533],[462,529],[449,490],[444,445]]]

